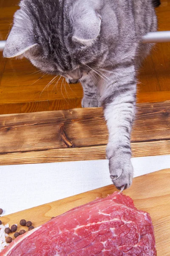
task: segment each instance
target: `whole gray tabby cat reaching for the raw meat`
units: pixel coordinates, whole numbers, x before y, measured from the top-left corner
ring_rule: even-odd
[[[79,80],[82,107],[104,107],[109,169],[118,189],[132,183],[136,70],[151,48],[142,36],[156,29],[152,0],[22,0],[3,52]]]

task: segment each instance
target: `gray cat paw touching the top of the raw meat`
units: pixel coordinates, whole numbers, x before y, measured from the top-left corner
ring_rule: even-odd
[[[111,180],[117,189],[127,189],[132,184],[133,166],[126,155],[114,156],[109,159]]]

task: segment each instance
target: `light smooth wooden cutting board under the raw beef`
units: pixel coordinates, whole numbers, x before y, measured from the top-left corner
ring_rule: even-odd
[[[31,188],[30,188],[31,189]],[[1,217],[3,224],[18,224],[20,219],[32,221],[34,227],[45,223],[51,217],[62,214],[73,207],[93,201],[96,197],[106,197],[115,191],[113,185],[94,189],[69,198],[40,205],[21,212]],[[19,193],[19,191],[17,191]],[[138,209],[150,213],[156,236],[157,256],[170,256],[170,169],[164,169],[136,177],[130,189],[123,193],[133,198]],[[21,191],[22,196],[22,191]],[[9,205],[10,207],[10,205]],[[27,228],[25,228],[27,230]]]

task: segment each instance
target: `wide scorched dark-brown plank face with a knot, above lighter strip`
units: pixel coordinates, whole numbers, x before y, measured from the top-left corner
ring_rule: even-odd
[[[170,102],[142,103],[132,142],[170,139]],[[0,153],[106,145],[102,108],[0,116]]]

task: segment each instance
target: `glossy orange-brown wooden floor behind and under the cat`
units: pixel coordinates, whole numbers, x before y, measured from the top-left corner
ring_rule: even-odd
[[[0,0],[0,40],[5,40],[8,35],[17,4],[18,0]],[[162,0],[156,12],[159,30],[170,30],[170,1]],[[28,60],[0,58],[0,61],[0,114],[81,107],[80,84],[65,85],[60,79],[57,88],[55,81],[45,88],[53,76],[34,73],[37,69]],[[170,43],[156,44],[139,70],[139,103],[170,100],[169,70]]]

